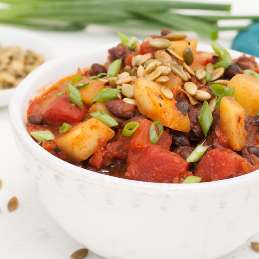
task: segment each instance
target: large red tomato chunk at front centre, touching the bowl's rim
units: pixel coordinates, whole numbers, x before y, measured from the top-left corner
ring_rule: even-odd
[[[129,149],[127,163],[127,179],[142,182],[172,183],[174,177],[188,169],[188,163],[180,155],[152,144],[138,151]]]

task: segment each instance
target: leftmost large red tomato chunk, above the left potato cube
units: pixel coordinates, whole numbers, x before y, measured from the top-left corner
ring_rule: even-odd
[[[48,122],[78,123],[83,120],[88,110],[89,107],[86,104],[84,108],[80,108],[69,100],[69,95],[62,95],[48,105],[43,118]]]

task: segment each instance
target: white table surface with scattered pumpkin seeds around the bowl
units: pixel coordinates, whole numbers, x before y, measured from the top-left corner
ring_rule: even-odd
[[[207,0],[207,2],[212,1]],[[225,3],[226,0],[217,0],[217,2]],[[243,0],[229,2],[233,4],[233,14],[259,15],[257,8],[251,8],[257,7],[258,0],[246,0],[245,3]],[[36,32],[53,45],[57,56],[119,40],[116,30],[99,26],[91,26],[85,31],[78,32]],[[133,35],[132,31],[122,32]],[[197,37],[193,33],[189,35]],[[218,41],[225,47],[230,47],[235,35],[236,32],[223,32]],[[139,33],[136,36],[142,38]],[[148,36],[148,32],[145,36]],[[199,40],[201,43],[210,43],[204,38]],[[0,109],[0,179],[2,181],[0,189],[1,259],[69,259],[74,251],[82,248],[59,227],[42,205],[11,135],[7,108]],[[8,212],[7,203],[12,196],[18,198],[19,206],[15,211]],[[258,259],[259,253],[252,250],[251,241],[259,242],[259,234],[220,259]],[[91,251],[87,258],[102,259]]]

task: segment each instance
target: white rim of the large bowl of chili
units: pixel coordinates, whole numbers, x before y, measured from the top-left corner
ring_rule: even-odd
[[[117,186],[119,188],[134,188],[134,189],[153,189],[153,190],[169,190],[169,191],[176,191],[176,190],[204,190],[211,187],[222,187],[226,185],[235,185],[241,182],[248,182],[253,180],[254,178],[259,177],[259,169],[256,171],[253,171],[251,173],[248,173],[246,175],[230,178],[230,179],[224,179],[214,182],[203,182],[203,183],[195,183],[195,184],[171,184],[171,183],[151,183],[151,182],[141,182],[141,181],[134,181],[129,179],[123,179],[118,178],[110,175],[104,175],[101,173],[96,173],[84,168],[77,167],[75,165],[72,165],[68,162],[65,162],[54,155],[50,154],[46,150],[42,149],[41,146],[39,146],[27,133],[25,129],[25,124],[23,121],[23,118],[21,118],[19,114],[19,108],[20,104],[18,100],[21,99],[21,93],[24,88],[30,88],[30,81],[33,81],[35,78],[37,78],[38,75],[41,74],[45,69],[49,70],[51,67],[56,66],[58,63],[64,62],[68,59],[76,59],[79,58],[82,55],[87,54],[93,54],[95,52],[99,52],[101,50],[108,50],[111,47],[114,47],[115,44],[107,44],[102,47],[98,47],[96,49],[92,49],[91,51],[83,51],[78,52],[75,54],[66,55],[63,57],[55,58],[52,60],[49,60],[42,64],[40,67],[36,68],[34,71],[32,71],[15,89],[15,92],[11,98],[10,104],[9,104],[9,118],[10,118],[10,124],[13,135],[15,134],[22,145],[26,144],[30,148],[30,150],[33,150],[33,156],[37,157],[37,160],[41,160],[41,162],[48,161],[51,164],[51,168],[57,168],[59,172],[62,173],[62,175],[70,177],[72,179],[78,179],[78,180],[91,180],[91,181],[97,181],[100,184],[112,184],[113,186]],[[212,48],[209,48],[209,45],[205,44],[198,44],[198,51],[199,49],[205,48],[204,51],[210,51]],[[212,50],[213,51],[213,50]],[[230,53],[235,53],[236,55],[242,56],[243,53],[235,50],[228,49]],[[248,55],[250,56],[250,55]],[[256,58],[257,62],[259,62],[259,58]],[[46,73],[46,71],[45,71]],[[51,82],[51,85],[54,83]],[[30,151],[30,153],[32,153]],[[42,152],[43,151],[43,152]]]

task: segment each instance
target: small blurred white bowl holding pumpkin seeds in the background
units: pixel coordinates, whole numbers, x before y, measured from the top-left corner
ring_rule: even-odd
[[[33,50],[37,54],[43,54],[45,61],[55,57],[54,50],[45,38],[24,29],[0,26],[0,44],[3,47],[20,46],[23,50]],[[14,91],[15,88],[0,90],[0,108],[8,106]]]

